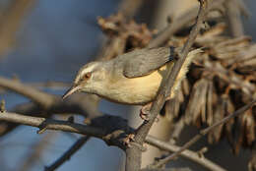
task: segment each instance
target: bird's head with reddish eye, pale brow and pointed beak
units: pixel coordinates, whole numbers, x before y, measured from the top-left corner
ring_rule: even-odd
[[[74,92],[84,91],[94,93],[98,85],[104,80],[104,69],[102,62],[91,62],[83,66],[74,80],[73,85],[64,93],[66,98]]]

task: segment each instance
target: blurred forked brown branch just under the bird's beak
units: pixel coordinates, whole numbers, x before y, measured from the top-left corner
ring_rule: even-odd
[[[32,86],[22,84],[20,82],[0,77],[0,86],[13,90],[19,94],[23,94],[34,103],[26,103],[18,105],[12,111],[25,115],[38,117],[50,117],[52,113],[79,113],[88,118],[101,116],[97,110],[98,98],[96,95],[74,94],[67,100],[63,101],[60,96],[48,94],[40,91]],[[37,104],[37,105],[36,105]],[[40,111],[43,111],[42,113]],[[17,124],[0,124],[0,136],[7,134],[17,127]]]

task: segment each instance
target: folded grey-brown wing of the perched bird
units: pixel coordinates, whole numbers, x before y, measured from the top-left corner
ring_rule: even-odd
[[[123,74],[127,78],[136,78],[151,74],[165,63],[174,59],[174,48],[160,47],[140,49],[126,54]]]

